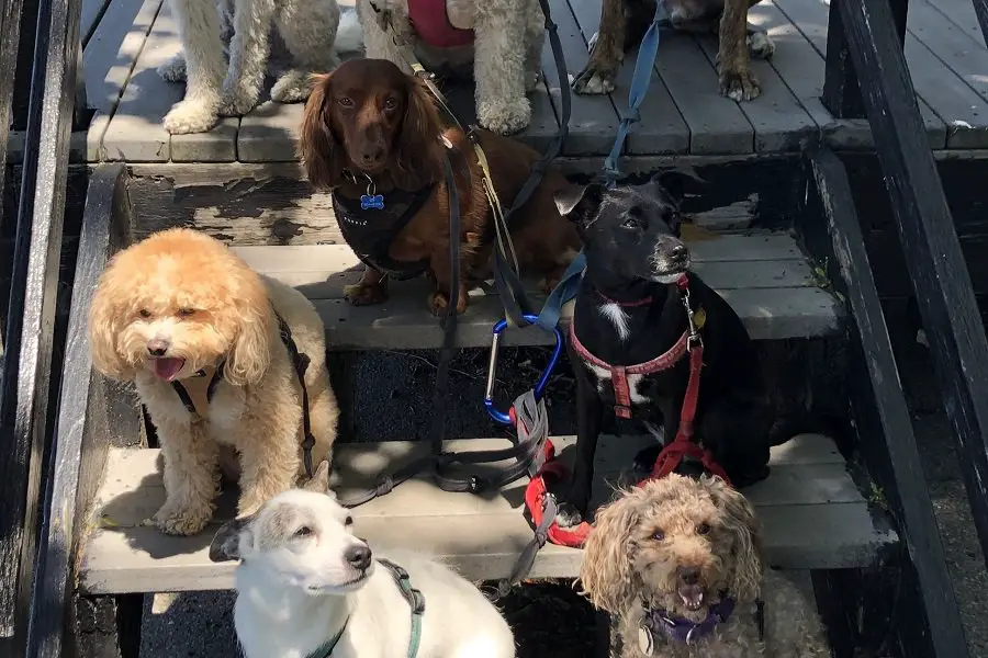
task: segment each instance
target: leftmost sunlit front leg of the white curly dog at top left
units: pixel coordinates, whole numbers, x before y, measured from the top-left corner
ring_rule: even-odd
[[[220,86],[226,76],[223,44],[215,36],[220,34],[220,12],[209,1],[170,2],[184,48],[187,87],[186,98],[165,115],[162,123],[172,135],[203,133],[216,124]]]

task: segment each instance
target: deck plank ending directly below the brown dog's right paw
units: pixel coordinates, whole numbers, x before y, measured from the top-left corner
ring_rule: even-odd
[[[752,152],[751,123],[738,103],[720,95],[717,71],[692,34],[663,32],[655,70],[689,127],[689,152]]]

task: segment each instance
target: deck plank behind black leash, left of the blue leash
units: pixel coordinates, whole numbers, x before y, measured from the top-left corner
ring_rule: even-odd
[[[586,42],[580,32],[580,25],[570,12],[566,0],[550,0],[552,20],[559,26],[559,38],[562,42],[563,56],[566,68],[579,71],[586,64]],[[546,39],[542,49],[542,71],[546,75],[546,86],[557,116],[561,113],[559,76],[555,70],[555,60]],[[564,76],[565,78],[565,76]],[[580,95],[571,93],[572,114],[570,116],[570,134],[563,146],[563,155],[566,156],[598,156],[606,154],[614,145],[619,123],[618,113],[609,95]]]

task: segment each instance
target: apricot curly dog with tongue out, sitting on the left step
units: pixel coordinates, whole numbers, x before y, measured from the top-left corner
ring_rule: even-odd
[[[339,409],[323,324],[300,292],[258,275],[222,242],[171,229],[117,253],[97,287],[89,337],[93,366],[134,382],[157,428],[166,500],[154,521],[164,532],[205,527],[229,449],[239,455],[238,515],[304,473],[292,344],[311,360],[313,464],[329,458]]]

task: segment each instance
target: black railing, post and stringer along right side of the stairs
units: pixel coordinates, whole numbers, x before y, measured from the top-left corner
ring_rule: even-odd
[[[981,16],[986,0],[974,1],[980,5]],[[907,0],[833,0],[823,101],[837,117],[866,116],[871,124],[905,262],[954,429],[975,525],[983,553],[988,555],[988,377],[983,374],[988,372],[988,342],[902,52],[907,4]],[[858,80],[865,84],[860,86]],[[832,159],[826,159],[827,167],[820,162],[813,161],[818,184],[821,172],[830,171],[831,179],[837,175]],[[856,235],[861,240],[860,231]],[[838,260],[850,258],[846,252],[834,256]],[[854,304],[858,306],[858,313],[882,317],[880,308],[863,306],[876,306],[877,296],[857,295],[852,297]],[[882,322],[880,331],[876,332],[874,326],[862,330],[862,339],[880,340],[884,318]],[[875,344],[865,344],[862,358],[873,359],[876,349]],[[898,386],[895,363],[884,363],[888,370],[878,374],[894,377]],[[886,456],[897,489],[895,511],[909,551],[907,576],[922,598],[929,628],[928,634],[919,629],[913,634],[923,636],[918,642],[929,642],[936,656],[966,656],[956,603],[952,593],[944,597],[944,592],[951,592],[951,581],[917,461],[916,441],[911,428],[907,432],[902,427],[898,400],[883,400],[878,393],[875,397],[882,406],[882,427],[886,432],[898,431],[898,435],[886,436]],[[895,409],[889,410],[889,405]],[[890,418],[897,419],[891,426]],[[900,633],[909,635],[909,629],[900,628]]]

